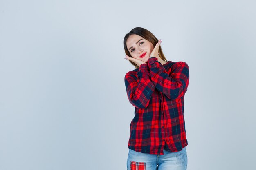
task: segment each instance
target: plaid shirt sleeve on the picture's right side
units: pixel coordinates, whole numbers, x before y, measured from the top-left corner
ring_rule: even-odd
[[[148,59],[148,67],[155,88],[169,99],[175,100],[186,93],[189,85],[189,66],[186,62],[177,62],[171,75],[168,75],[156,57]]]

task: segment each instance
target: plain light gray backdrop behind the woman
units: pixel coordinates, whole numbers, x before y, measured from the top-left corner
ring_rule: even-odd
[[[188,170],[255,166],[256,2],[0,0],[0,170],[125,170],[123,38],[190,68]]]

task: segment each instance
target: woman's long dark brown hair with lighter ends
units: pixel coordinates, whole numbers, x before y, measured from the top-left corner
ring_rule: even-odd
[[[126,46],[126,41],[130,37],[130,35],[133,35],[133,34],[139,35],[139,36],[143,37],[144,39],[148,40],[149,42],[151,42],[153,44],[154,47],[158,42],[158,39],[155,37],[155,35],[153,35],[153,33],[148,31],[147,29],[144,29],[141,27],[136,27],[136,28],[132,29],[129,33],[127,33],[124,36],[124,51],[125,51],[126,55],[128,55],[129,57],[132,57],[132,55],[130,55],[130,52]],[[164,56],[161,45],[159,46],[158,53],[159,53],[159,57],[162,60],[168,62],[166,57]],[[139,66],[137,66],[137,64],[135,64],[135,62],[132,62],[130,60],[129,60],[129,62],[132,63],[132,65],[135,66],[135,68],[139,68]]]

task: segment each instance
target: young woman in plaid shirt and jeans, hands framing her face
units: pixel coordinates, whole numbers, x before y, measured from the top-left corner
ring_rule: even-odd
[[[135,69],[124,81],[135,106],[130,123],[127,170],[186,170],[184,95],[189,85],[186,62],[167,61],[160,43],[136,27],[124,37],[126,60]]]

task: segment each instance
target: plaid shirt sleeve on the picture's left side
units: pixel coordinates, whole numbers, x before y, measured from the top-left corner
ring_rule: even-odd
[[[125,78],[126,92],[132,106],[137,108],[148,107],[150,97],[155,90],[153,82],[150,80],[148,64],[139,66],[139,71],[129,71]]]

